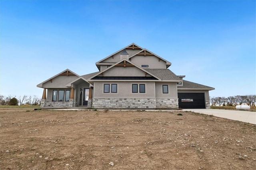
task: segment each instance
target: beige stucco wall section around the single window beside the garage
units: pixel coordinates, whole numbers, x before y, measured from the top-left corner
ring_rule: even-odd
[[[178,98],[177,83],[156,82],[156,98],[157,99],[173,99]],[[163,93],[162,85],[168,85],[168,93]]]

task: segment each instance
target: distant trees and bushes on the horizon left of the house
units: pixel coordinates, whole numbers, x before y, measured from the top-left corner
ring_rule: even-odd
[[[41,99],[37,97],[36,95],[34,96],[11,96],[9,95],[8,97],[5,97],[3,95],[0,95],[0,105],[40,105],[41,104]]]

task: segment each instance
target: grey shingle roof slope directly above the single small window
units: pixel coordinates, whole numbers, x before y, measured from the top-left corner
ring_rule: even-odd
[[[162,80],[181,80],[176,74],[169,69],[145,69],[146,71],[156,75]]]

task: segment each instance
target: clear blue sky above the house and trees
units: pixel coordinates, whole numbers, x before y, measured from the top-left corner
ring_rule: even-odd
[[[136,43],[210,96],[256,94],[254,0],[0,0],[0,94],[37,84]]]

